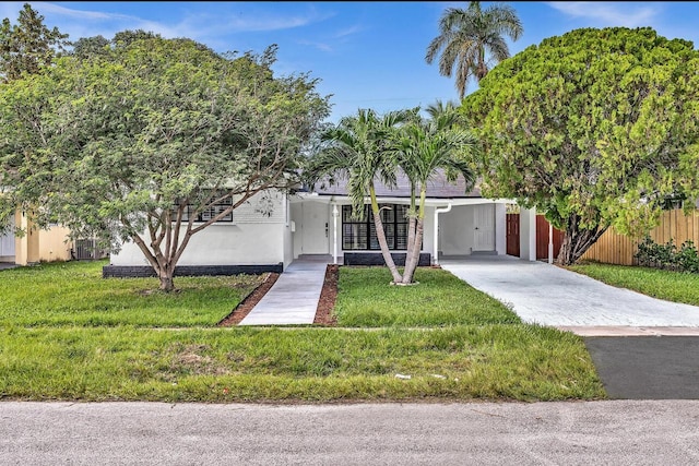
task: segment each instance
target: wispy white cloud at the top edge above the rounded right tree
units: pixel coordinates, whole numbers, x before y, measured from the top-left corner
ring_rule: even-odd
[[[649,26],[662,11],[659,7],[636,7],[625,2],[546,2],[549,7],[573,17],[597,21],[605,26]]]

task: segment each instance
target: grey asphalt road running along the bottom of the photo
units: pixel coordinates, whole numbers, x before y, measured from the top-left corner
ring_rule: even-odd
[[[2,465],[699,464],[699,401],[0,403]]]

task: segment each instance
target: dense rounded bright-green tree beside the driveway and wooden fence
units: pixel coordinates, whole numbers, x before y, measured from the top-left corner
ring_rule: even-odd
[[[699,56],[651,28],[572,31],[496,67],[465,98],[484,192],[535,206],[570,264],[612,225],[648,226],[666,195],[696,195]]]

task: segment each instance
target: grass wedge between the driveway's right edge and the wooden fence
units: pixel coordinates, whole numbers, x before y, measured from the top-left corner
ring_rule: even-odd
[[[619,288],[699,306],[699,274],[609,264],[572,265],[569,268]]]

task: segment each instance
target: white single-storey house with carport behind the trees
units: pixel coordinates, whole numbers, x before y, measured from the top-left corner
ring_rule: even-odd
[[[405,177],[398,187],[377,186],[384,208],[391,250],[401,258],[406,248],[410,204]],[[476,188],[465,192],[463,179],[450,184],[436,177],[427,192],[422,264],[443,256],[506,254],[506,206],[511,200],[489,200]],[[351,217],[344,184],[317,187],[287,194],[264,191],[250,198],[230,216],[192,236],[178,262],[177,275],[220,275],[282,272],[301,255],[324,255],[334,263],[383,263],[374,224]],[[522,210],[521,256],[535,260],[535,213]],[[438,253],[436,253],[438,251]],[[358,261],[358,262],[357,262]],[[144,276],[152,273],[132,242],[112,253],[104,276]]]

